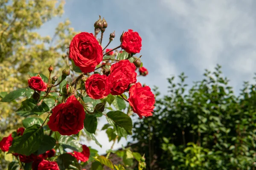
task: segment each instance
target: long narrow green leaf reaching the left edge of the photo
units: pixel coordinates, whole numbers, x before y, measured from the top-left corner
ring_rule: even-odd
[[[20,88],[18,90],[12,91],[1,100],[1,102],[11,102],[21,96],[31,96],[34,91],[31,88]],[[29,96],[29,97],[30,97]]]

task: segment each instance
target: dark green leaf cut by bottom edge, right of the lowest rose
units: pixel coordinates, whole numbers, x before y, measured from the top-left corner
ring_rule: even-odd
[[[60,170],[70,169],[70,165],[77,167],[79,170],[81,169],[76,158],[68,153],[64,153],[64,154],[58,156],[57,163],[58,163]]]

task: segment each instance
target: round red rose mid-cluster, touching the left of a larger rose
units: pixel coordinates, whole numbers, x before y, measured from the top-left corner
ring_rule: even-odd
[[[93,74],[85,81],[85,89],[92,99],[102,99],[110,94],[111,82],[106,75]]]

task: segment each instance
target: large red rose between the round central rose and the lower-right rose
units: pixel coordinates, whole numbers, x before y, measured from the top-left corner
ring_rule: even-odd
[[[111,66],[110,75],[108,76],[113,85],[111,94],[123,94],[131,83],[137,81],[137,73],[135,72],[135,69],[135,65],[128,59],[116,62]]]

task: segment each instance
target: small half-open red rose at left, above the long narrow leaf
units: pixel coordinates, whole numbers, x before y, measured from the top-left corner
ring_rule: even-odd
[[[46,91],[47,89],[47,83],[45,83],[40,75],[33,76],[28,80],[29,87],[32,88],[35,91]]]

